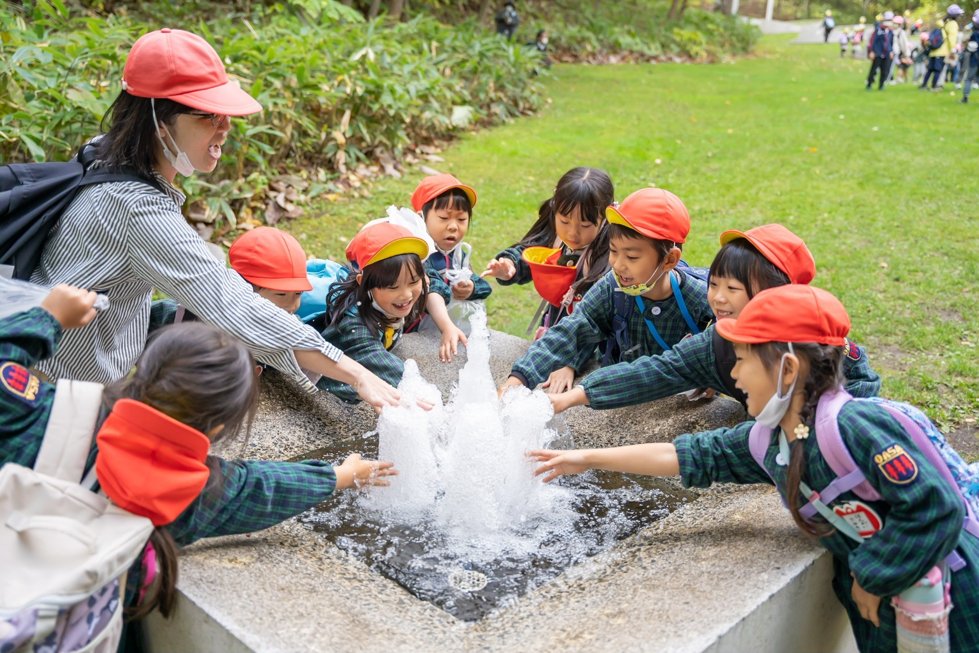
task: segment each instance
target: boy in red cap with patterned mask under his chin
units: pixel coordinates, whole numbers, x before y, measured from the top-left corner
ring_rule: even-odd
[[[604,344],[602,364],[670,350],[710,323],[707,283],[678,266],[690,216],[673,193],[644,188],[606,209],[612,270],[592,286],[574,312],[547,330],[510,370],[500,388],[548,393],[571,388],[575,375]],[[548,376],[550,375],[550,376]]]

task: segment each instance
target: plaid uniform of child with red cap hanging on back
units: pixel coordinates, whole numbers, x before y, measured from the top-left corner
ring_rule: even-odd
[[[43,308],[16,313],[0,320],[0,365],[24,367],[54,353],[62,329]],[[33,401],[24,400],[0,384],[0,465],[8,462],[32,467],[51,414],[55,387],[40,381]],[[95,463],[93,437],[86,472]],[[180,515],[166,526],[177,544],[186,546],[202,537],[253,533],[274,526],[328,499],[337,486],[333,467],[321,460],[275,462],[268,460],[216,461],[218,473]],[[126,604],[135,598],[140,583],[142,556],[133,563],[126,583]]]

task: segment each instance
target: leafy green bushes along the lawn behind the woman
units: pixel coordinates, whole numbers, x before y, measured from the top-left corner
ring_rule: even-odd
[[[208,19],[192,23],[189,7]],[[475,17],[447,25],[419,13],[383,26],[337,0],[138,9],[139,20],[63,0],[36,0],[30,15],[0,6],[0,164],[70,158],[101,131],[133,41],[174,23],[208,39],[264,108],[232,121],[213,174],[181,180],[189,219],[210,225],[202,232],[215,239],[260,224],[256,218],[274,224],[298,215],[307,198],[356,189],[372,162],[397,174],[407,146],[533,113],[542,100],[536,52],[504,42]],[[180,18],[163,18],[168,12]],[[726,17],[661,19],[647,16],[646,31],[636,31],[603,14],[555,27],[555,42],[569,51],[709,59],[743,52],[754,38]],[[651,38],[650,25],[662,25],[662,34]]]

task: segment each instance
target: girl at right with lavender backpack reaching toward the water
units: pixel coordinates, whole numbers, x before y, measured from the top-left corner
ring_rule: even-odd
[[[673,443],[531,451],[543,463],[536,474],[552,481],[604,469],[678,474],[687,488],[774,485],[796,525],[833,554],[833,589],[861,651],[976,650],[976,490],[956,480],[975,479],[975,465],[912,406],[843,390],[850,319],[829,293],[770,288],[717,329],[734,343],[731,374],[757,422]],[[905,648],[908,639],[917,646]]]

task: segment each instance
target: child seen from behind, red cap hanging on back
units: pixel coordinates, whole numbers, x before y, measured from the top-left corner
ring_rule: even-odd
[[[34,465],[56,396],[65,390],[41,381],[29,368],[54,354],[66,329],[91,321],[95,298],[95,293],[62,284],[40,306],[0,320],[0,375],[8,381],[0,383],[0,465]],[[385,477],[396,474],[392,463],[360,460],[358,454],[336,468],[319,460],[210,455],[211,443],[247,434],[257,394],[256,362],[249,350],[201,322],[160,329],[131,375],[105,390],[102,422],[84,474],[94,466],[96,489],[156,527],[126,576],[127,586],[119,588],[125,607],[138,606],[134,617],[157,607],[169,616],[176,598],[177,546],[260,531],[330,498],[335,490],[388,485]],[[90,617],[91,623],[100,622],[99,614]],[[23,645],[4,639],[17,631],[0,630],[0,649]],[[89,632],[89,639],[97,634]]]

